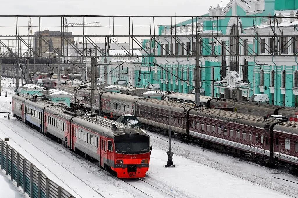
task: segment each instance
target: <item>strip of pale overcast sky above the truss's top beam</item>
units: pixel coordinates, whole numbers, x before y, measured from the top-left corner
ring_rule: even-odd
[[[228,0],[223,2],[223,6]],[[13,0],[1,15],[202,15],[220,0]]]

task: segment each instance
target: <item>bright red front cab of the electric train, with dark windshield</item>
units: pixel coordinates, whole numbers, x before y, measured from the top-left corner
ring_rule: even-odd
[[[101,156],[105,168],[110,168],[119,178],[145,177],[149,169],[150,143],[149,136],[145,134],[120,134],[114,140],[101,139]],[[104,159],[106,156],[106,159]]]

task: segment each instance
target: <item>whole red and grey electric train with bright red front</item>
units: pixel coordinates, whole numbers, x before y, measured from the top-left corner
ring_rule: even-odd
[[[97,162],[119,178],[145,177],[149,136],[142,129],[97,117],[74,114],[65,106],[13,95],[13,116],[75,153]]]

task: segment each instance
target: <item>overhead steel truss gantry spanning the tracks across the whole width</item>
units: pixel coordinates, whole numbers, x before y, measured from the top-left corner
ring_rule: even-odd
[[[75,27],[76,30],[72,34],[64,32],[66,26],[64,25],[64,18],[74,18],[76,20],[83,21],[83,25]],[[27,30],[25,27],[28,18],[32,18],[34,35],[26,35]],[[57,20],[60,19],[60,20]],[[252,26],[245,30],[245,34],[229,35],[222,34],[220,20],[224,18],[231,18],[236,24],[241,24],[241,20],[252,21]],[[235,38],[238,45],[243,46],[243,38],[251,37],[254,42],[261,44],[260,38],[274,38],[274,45],[280,45],[281,37],[293,37],[288,40],[285,46],[290,46],[297,38],[298,28],[295,23],[298,21],[297,17],[248,17],[248,16],[236,16],[236,17],[203,17],[203,16],[91,16],[91,15],[59,15],[59,16],[0,16],[0,58],[1,59],[24,59],[30,57],[36,58],[53,58],[54,56],[60,58],[91,58],[96,56],[113,57],[111,53],[111,45],[115,44],[123,50],[123,54],[117,56],[122,57],[134,57],[133,49],[143,49],[146,52],[146,56],[154,57],[189,57],[189,56],[243,56],[240,52],[229,53],[227,46],[222,46],[222,40],[225,37]],[[25,19],[25,20],[24,20]],[[55,19],[55,20],[54,20]],[[189,21],[191,25],[183,25],[184,31],[179,32],[179,28],[182,21]],[[203,21],[212,23],[207,25],[200,23]],[[22,21],[22,22],[21,22]],[[100,21],[100,25],[94,21]],[[164,25],[164,29],[160,30],[159,21],[167,23]],[[294,22],[290,28],[292,29],[291,35],[284,34],[284,23],[289,21]],[[92,25],[90,23],[94,22]],[[38,23],[38,24],[37,24]],[[240,25],[241,26],[241,25]],[[270,32],[268,34],[259,34],[259,29],[269,27]],[[243,28],[243,27],[241,27]],[[49,35],[44,34],[44,30],[59,31],[60,34]],[[189,30],[189,31],[188,31]],[[211,30],[209,32],[204,30]],[[188,32],[187,32],[188,31]],[[97,32],[93,34],[92,32]],[[98,34],[100,32],[100,34]],[[184,34],[183,34],[184,32]],[[91,34],[92,33],[92,34]],[[168,33],[168,34],[167,34]],[[34,45],[31,45],[28,40],[32,38]],[[168,39],[171,43],[179,43],[181,45],[182,38],[188,38],[193,42],[199,42],[202,39],[212,39],[215,41],[216,47],[225,48],[228,53],[221,54],[220,51],[215,54],[195,54],[195,50],[192,50],[189,54],[171,54],[164,53],[158,54],[157,49],[166,51],[164,45],[161,45],[160,40]],[[141,39],[148,39],[152,43],[152,47],[146,48],[142,45]],[[56,44],[53,44],[53,40]],[[105,47],[100,48],[96,41],[104,41]],[[75,42],[77,41],[77,42]],[[125,49],[121,43],[129,43],[129,49]],[[78,44],[81,43],[81,44]],[[268,46],[268,44],[266,44]],[[182,46],[186,48],[186,46]],[[207,45],[202,45],[201,48],[207,48]],[[268,46],[269,47],[269,46]],[[245,56],[293,56],[290,54],[283,54],[281,49],[269,51],[265,50],[268,54],[260,54],[260,49],[257,47],[249,47],[248,53]],[[297,52],[294,54],[297,55]]]

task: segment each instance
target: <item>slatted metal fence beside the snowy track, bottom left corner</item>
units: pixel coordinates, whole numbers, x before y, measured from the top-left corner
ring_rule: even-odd
[[[31,198],[75,198],[0,139],[0,166]]]

